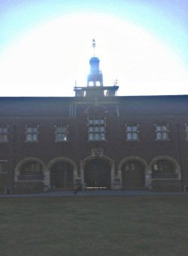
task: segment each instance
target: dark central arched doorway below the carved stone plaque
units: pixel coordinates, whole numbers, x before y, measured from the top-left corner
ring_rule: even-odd
[[[104,159],[91,159],[84,167],[87,187],[111,188],[111,166]]]

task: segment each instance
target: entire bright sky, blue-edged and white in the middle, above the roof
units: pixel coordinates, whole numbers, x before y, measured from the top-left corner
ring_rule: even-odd
[[[187,11],[187,0],[0,0],[1,96],[74,96],[94,54],[119,96],[188,94]]]

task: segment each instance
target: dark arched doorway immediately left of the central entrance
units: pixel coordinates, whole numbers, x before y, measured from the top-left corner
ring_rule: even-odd
[[[69,162],[55,162],[50,168],[50,186],[56,189],[72,189],[73,168]]]

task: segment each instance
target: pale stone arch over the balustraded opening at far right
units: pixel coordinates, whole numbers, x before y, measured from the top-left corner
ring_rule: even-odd
[[[181,171],[180,171],[180,165],[178,164],[177,160],[173,159],[171,156],[156,156],[154,159],[151,160],[148,171],[150,174],[152,174],[152,167],[155,162],[158,162],[159,160],[166,160],[171,163],[171,165],[174,167],[175,173],[178,174],[178,180],[181,180]]]

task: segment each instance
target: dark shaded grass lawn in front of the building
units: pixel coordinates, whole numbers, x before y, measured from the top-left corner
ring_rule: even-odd
[[[0,255],[187,255],[187,199],[0,198]]]

